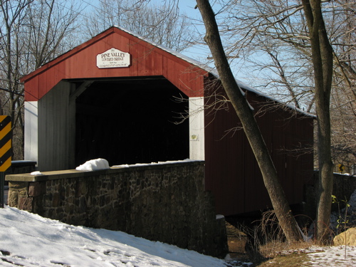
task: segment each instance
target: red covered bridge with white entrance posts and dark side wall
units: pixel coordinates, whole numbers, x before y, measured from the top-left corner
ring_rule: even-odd
[[[217,213],[270,205],[243,130],[231,131],[239,119],[229,103],[216,102],[224,100],[219,78],[196,61],[112,27],[22,81],[25,159],[38,170],[73,169],[99,157],[111,166],[200,159]],[[264,109],[256,118],[290,204],[300,203],[313,154],[297,149],[312,144],[313,117],[240,86]]]

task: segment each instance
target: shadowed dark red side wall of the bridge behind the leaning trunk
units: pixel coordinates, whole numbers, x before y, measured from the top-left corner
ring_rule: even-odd
[[[255,110],[270,107],[266,98],[253,93],[248,93],[248,101]],[[300,142],[313,140],[313,119],[300,120],[300,117],[282,108],[256,115],[290,204],[303,201],[303,184],[313,172],[312,154],[296,155],[286,151],[295,150]],[[231,105],[229,110],[217,110],[214,116],[207,116],[205,124],[206,189],[215,196],[216,212],[231,215],[271,207],[261,172],[243,130],[226,135],[226,131],[239,125]]]

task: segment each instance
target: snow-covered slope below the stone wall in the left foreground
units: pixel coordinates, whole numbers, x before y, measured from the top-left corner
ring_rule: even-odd
[[[120,231],[71,226],[0,209],[0,266],[226,267],[226,261]]]

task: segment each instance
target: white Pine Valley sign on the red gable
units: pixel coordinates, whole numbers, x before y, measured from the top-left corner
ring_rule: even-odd
[[[111,48],[96,56],[98,68],[124,68],[130,66],[130,54]]]

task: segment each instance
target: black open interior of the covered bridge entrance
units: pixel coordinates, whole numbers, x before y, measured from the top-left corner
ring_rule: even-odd
[[[76,166],[188,158],[187,99],[165,78],[95,80],[75,100]]]

